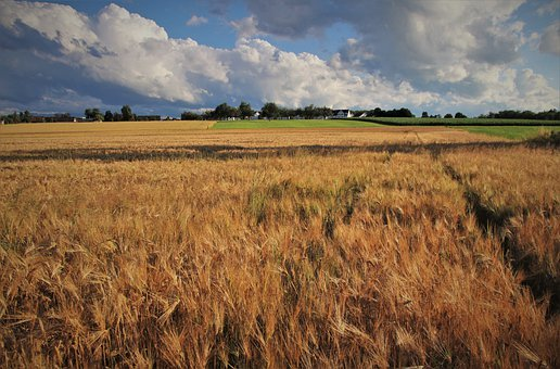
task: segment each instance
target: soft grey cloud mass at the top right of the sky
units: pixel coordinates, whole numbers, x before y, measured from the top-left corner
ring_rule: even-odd
[[[434,79],[440,69],[456,64],[466,69],[472,62],[509,63],[519,56],[523,43],[523,24],[507,22],[522,0],[448,1],[445,5],[416,0],[247,2],[257,28],[267,34],[297,38],[336,22],[348,23],[360,37],[341,49],[343,60],[356,64],[356,58],[366,55],[360,63],[365,69],[405,77]],[[440,74],[440,79],[446,75]]]

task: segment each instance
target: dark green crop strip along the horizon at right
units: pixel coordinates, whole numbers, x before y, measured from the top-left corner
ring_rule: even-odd
[[[356,118],[355,118],[356,119]],[[560,126],[560,120],[491,119],[491,118],[359,118],[394,126]]]

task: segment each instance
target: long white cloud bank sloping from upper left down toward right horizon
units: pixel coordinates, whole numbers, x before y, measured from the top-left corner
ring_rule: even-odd
[[[89,78],[98,88],[105,82],[107,89],[116,85],[131,91],[137,100],[148,97],[193,106],[243,98],[285,105],[387,106],[438,99],[409,86],[394,86],[376,75],[358,76],[336,69],[316,55],[285,52],[259,39],[241,39],[232,49],[173,39],[153,21],[115,4],[104,8],[96,18],[64,5],[5,2],[1,7],[7,10],[3,14],[11,14],[1,18],[0,24],[7,28],[2,34],[15,38],[15,43],[23,41],[27,48],[28,35],[38,34],[48,42],[40,53],[36,53],[37,49],[25,50],[29,58],[34,55],[30,69],[44,60],[51,65],[37,73],[72,71],[69,79]],[[93,49],[97,52],[91,52]],[[20,66],[8,69],[29,72]],[[68,78],[60,77],[49,78],[71,84]],[[105,99],[103,89],[99,90],[98,98]],[[5,94],[17,93],[14,91],[17,89]]]

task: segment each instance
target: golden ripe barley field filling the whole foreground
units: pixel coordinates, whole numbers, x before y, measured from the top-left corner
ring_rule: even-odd
[[[0,127],[0,366],[560,366],[560,156],[445,127]]]

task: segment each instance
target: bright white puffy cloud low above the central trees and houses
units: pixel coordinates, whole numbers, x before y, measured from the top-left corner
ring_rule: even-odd
[[[284,52],[267,41],[243,39],[229,54],[234,96],[276,101],[288,106],[315,103],[330,106],[385,107],[393,104],[421,105],[438,100],[435,93],[423,93],[411,87],[383,80],[373,75],[358,76],[336,69],[330,63],[309,53]]]

